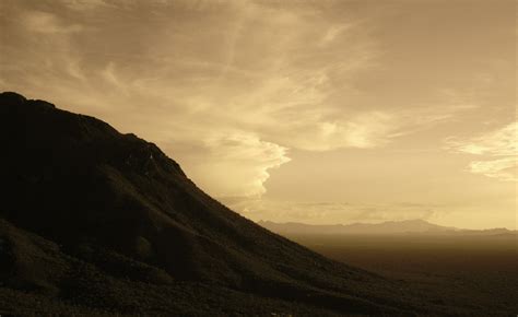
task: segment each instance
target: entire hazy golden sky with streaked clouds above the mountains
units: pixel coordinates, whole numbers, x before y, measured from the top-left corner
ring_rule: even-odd
[[[255,220],[516,228],[516,2],[0,0],[0,91]]]

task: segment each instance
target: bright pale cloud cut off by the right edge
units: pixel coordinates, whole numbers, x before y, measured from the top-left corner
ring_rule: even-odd
[[[518,180],[518,121],[467,140],[448,138],[446,144],[456,152],[487,157],[471,162],[468,167],[471,173],[505,181]]]

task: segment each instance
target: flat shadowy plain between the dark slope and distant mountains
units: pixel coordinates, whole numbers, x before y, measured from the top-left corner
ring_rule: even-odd
[[[445,306],[478,315],[518,312],[516,233],[285,236],[331,259],[410,283],[414,294],[428,294]]]

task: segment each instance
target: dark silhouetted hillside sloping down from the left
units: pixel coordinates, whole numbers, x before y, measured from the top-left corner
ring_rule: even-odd
[[[213,200],[154,144],[47,102],[0,94],[0,146],[1,315],[516,313],[325,258]]]

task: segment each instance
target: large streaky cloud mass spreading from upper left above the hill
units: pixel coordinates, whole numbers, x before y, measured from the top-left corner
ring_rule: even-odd
[[[289,149],[386,146],[462,110],[368,102],[384,50],[345,4],[30,2],[0,15],[1,89],[158,143],[212,195],[263,193]]]

